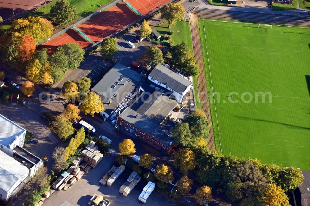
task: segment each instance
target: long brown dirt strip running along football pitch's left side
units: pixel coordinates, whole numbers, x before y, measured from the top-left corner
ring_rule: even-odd
[[[201,48],[199,24],[198,24],[198,18],[193,13],[190,18],[189,24],[190,24],[191,33],[192,33],[194,56],[196,59],[196,64],[200,68],[200,75],[197,76],[197,84],[198,84],[197,91],[199,94],[200,105],[201,105],[201,109],[206,113],[210,121],[210,130],[209,130],[210,137],[207,141],[207,144],[210,150],[215,150],[216,147],[215,147],[215,141],[214,141],[210,103],[209,103],[209,98],[208,98],[205,65],[203,61],[203,54],[202,54],[202,48]]]

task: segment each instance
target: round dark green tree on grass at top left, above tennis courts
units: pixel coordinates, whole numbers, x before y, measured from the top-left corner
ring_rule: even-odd
[[[77,19],[77,8],[66,0],[59,0],[51,6],[50,16],[60,25],[67,25]]]

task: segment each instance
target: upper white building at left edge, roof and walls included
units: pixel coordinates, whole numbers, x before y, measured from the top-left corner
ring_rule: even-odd
[[[23,127],[0,114],[0,150],[8,154],[17,145],[23,147],[25,136],[26,130]]]

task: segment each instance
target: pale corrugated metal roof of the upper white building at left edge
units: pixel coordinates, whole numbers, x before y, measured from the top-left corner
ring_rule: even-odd
[[[24,128],[0,114],[0,144],[8,147],[15,140],[15,136],[19,136],[24,131],[26,131]]]

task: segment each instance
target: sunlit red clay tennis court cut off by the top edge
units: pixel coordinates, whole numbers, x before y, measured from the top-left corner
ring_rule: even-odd
[[[150,11],[154,11],[157,7],[169,2],[169,0],[125,0],[137,9],[141,15],[146,15]]]

